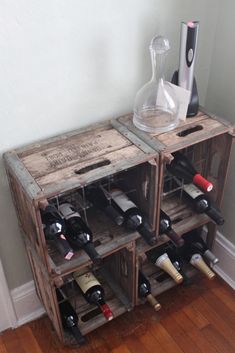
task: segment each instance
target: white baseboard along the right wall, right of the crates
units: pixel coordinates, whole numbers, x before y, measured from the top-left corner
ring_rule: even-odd
[[[213,253],[220,260],[214,267],[215,272],[235,289],[235,245],[217,232]]]

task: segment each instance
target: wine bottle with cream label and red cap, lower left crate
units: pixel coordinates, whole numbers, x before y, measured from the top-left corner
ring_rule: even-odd
[[[113,313],[108,304],[105,303],[105,293],[100,282],[92,272],[74,272],[73,277],[78,284],[81,292],[89,304],[97,305],[102,311],[106,320],[113,319]]]

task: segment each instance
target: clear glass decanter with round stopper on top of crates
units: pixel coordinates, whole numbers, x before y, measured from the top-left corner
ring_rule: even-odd
[[[163,78],[168,39],[156,36],[151,40],[152,78],[137,93],[133,123],[141,130],[162,133],[178,124],[179,103],[170,83]]]

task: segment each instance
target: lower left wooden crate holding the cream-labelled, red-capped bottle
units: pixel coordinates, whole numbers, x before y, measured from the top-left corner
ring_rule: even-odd
[[[100,310],[90,305],[83,298],[72,274],[57,276],[48,275],[40,262],[35,249],[28,243],[29,255],[37,293],[44,304],[54,329],[60,340],[66,345],[76,344],[73,336],[62,327],[56,288],[60,287],[78,315],[78,327],[82,334],[108,324]],[[82,267],[74,269],[80,270]],[[110,306],[114,318],[132,310],[135,303],[135,243],[129,242],[115,253],[107,256],[100,268],[87,266],[96,275],[105,290],[106,303]]]

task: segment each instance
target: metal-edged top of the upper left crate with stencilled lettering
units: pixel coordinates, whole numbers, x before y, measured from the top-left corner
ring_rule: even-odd
[[[156,155],[127,128],[118,122],[114,128],[111,121],[106,121],[8,152],[4,157],[23,185],[27,179],[31,188],[34,184],[37,195],[49,197]]]

